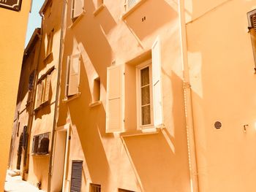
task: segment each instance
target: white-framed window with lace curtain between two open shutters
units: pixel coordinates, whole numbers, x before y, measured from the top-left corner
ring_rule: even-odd
[[[138,126],[153,126],[151,61],[137,66]]]

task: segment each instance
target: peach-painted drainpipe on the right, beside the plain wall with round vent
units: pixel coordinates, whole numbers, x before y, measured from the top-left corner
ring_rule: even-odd
[[[181,59],[184,77],[184,101],[185,101],[185,115],[187,124],[187,145],[189,153],[189,174],[191,191],[198,192],[198,177],[197,177],[197,157],[195,148],[195,133],[193,125],[193,112],[192,112],[192,97],[191,87],[189,83],[189,64],[187,58],[187,32],[185,21],[185,8],[184,0],[178,1],[178,15],[180,27],[180,41],[181,41]]]

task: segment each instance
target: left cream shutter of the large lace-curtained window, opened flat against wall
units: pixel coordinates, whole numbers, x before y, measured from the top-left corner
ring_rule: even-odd
[[[108,67],[106,132],[124,130],[124,65]]]

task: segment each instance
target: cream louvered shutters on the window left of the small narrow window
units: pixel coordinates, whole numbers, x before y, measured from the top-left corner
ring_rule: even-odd
[[[65,96],[69,97],[79,93],[80,54],[71,55],[67,60]]]

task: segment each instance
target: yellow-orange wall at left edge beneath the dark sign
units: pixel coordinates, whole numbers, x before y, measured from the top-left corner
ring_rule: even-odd
[[[23,1],[20,12],[0,9],[0,88],[1,88],[1,161],[0,189],[4,188],[5,173],[10,149],[13,114],[18,92],[18,80],[22,64],[31,1]]]

